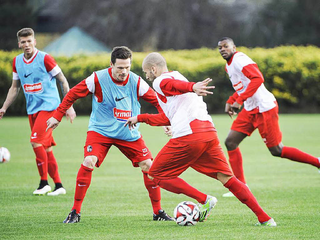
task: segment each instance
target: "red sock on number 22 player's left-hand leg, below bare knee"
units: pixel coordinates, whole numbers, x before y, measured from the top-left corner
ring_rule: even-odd
[[[75,202],[72,209],[76,209],[76,213],[79,214],[81,211],[81,204],[83,202],[85,193],[88,190],[88,187],[91,183],[91,175],[93,168],[88,168],[81,164],[81,167],[78,171],[77,180],[76,180],[76,192],[75,192]]]

